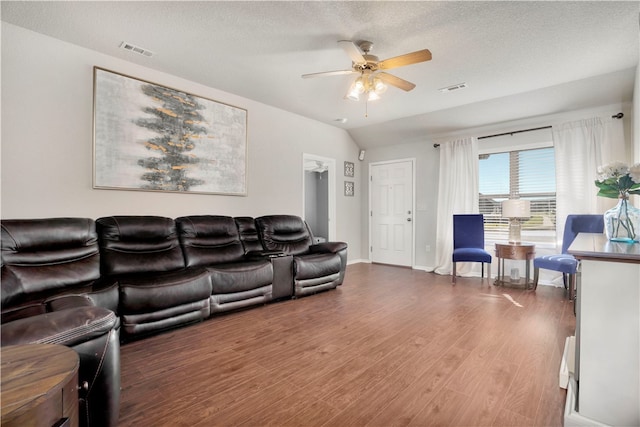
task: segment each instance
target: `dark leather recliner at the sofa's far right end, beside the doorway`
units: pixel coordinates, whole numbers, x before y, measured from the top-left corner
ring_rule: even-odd
[[[264,249],[293,257],[293,294],[302,296],[334,289],[344,281],[347,244],[313,244],[313,234],[302,218],[267,215],[255,219]]]

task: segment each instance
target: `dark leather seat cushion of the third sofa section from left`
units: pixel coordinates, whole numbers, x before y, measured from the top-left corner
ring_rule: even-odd
[[[216,264],[207,270],[214,295],[248,291],[273,283],[273,266],[266,259]]]

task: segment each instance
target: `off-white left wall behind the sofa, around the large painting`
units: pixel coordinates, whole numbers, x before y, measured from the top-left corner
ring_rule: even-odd
[[[93,189],[94,66],[247,109],[248,196]],[[2,23],[3,218],[302,215],[303,152],[342,165],[359,149],[334,126]],[[359,258],[361,194],[336,181],[337,238]]]

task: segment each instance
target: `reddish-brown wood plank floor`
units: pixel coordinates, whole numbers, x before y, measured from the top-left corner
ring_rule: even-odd
[[[121,426],[561,426],[564,290],[354,264],[122,346]]]

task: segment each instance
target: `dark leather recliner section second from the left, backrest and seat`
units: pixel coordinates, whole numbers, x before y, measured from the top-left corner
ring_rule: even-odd
[[[102,276],[119,285],[125,339],[209,317],[209,275],[185,268],[173,219],[110,216],[97,219],[96,228]]]

